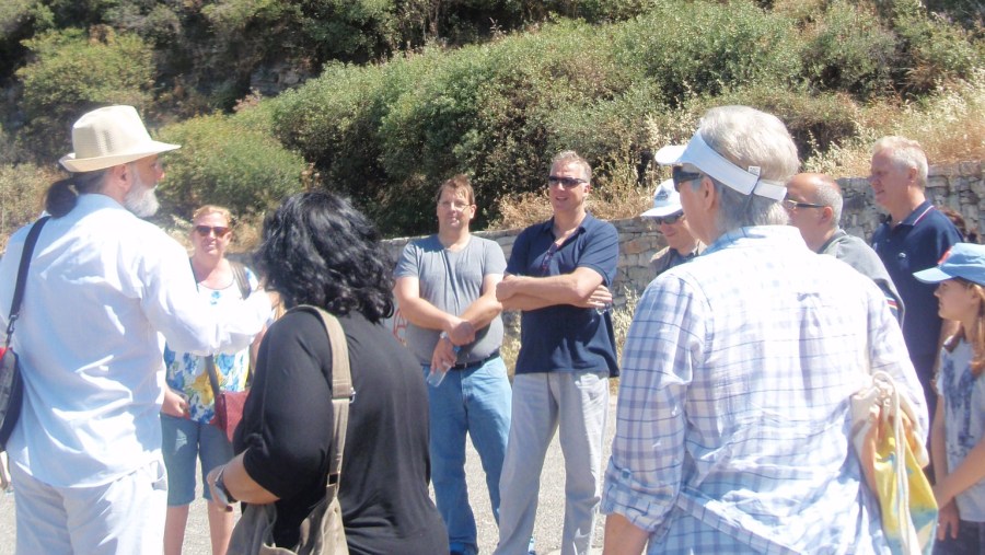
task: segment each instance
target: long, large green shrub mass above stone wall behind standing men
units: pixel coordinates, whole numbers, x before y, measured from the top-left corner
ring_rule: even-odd
[[[696,21],[679,20],[682,12]],[[385,233],[433,228],[432,189],[457,172],[473,175],[486,207],[476,221],[482,228],[498,218],[500,197],[542,190],[559,150],[578,150],[605,177],[646,148],[645,115],[665,109],[664,99],[683,102],[690,85],[722,90],[774,71],[795,79],[800,66],[785,43],[796,43],[786,23],[751,3],[674,2],[630,23],[563,22],[382,66],[332,65],[273,101],[275,129]],[[690,54],[650,50],[677,48],[669,37],[698,31],[715,36]],[[687,68],[679,68],[690,55]],[[682,72],[662,74],[653,62],[660,56]]]

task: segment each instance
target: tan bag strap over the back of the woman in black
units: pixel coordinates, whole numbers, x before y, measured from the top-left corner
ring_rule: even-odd
[[[322,320],[328,343],[332,346],[332,408],[335,415],[333,424],[333,441],[328,452],[328,495],[338,492],[341,474],[343,452],[346,448],[346,429],[349,424],[349,404],[356,397],[352,388],[352,373],[349,368],[349,347],[346,334],[338,319],[328,312],[310,304],[302,304],[292,310],[314,312]]]

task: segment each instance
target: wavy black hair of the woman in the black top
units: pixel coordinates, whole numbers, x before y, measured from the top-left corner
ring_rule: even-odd
[[[393,315],[393,262],[370,220],[325,190],[290,196],[264,220],[256,265],[285,304],[370,322]]]

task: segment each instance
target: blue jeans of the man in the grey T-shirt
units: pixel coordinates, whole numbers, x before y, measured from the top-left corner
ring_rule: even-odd
[[[427,366],[424,372],[427,377]],[[493,516],[499,522],[499,475],[510,433],[511,398],[506,365],[499,357],[474,369],[449,370],[439,386],[428,386],[431,482],[452,551],[477,552],[465,484],[466,432],[486,471]]]

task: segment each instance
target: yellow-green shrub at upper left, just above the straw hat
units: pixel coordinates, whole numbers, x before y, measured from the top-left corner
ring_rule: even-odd
[[[154,66],[139,37],[99,30],[46,33],[24,44],[36,60],[18,70],[27,125],[21,138],[37,161],[53,161],[71,148],[71,125],[83,113],[107,104],[143,112],[151,102]]]

